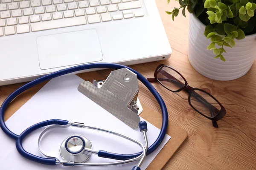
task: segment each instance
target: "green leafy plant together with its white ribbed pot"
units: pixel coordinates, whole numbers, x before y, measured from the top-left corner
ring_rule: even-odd
[[[172,20],[180,12],[186,17],[185,9],[191,13],[188,58],[195,70],[216,80],[246,74],[256,58],[256,0],[178,1],[166,13]]]

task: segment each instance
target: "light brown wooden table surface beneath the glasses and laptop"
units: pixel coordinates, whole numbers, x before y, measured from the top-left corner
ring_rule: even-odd
[[[202,88],[215,96],[227,110],[226,116],[212,122],[196,113],[188,104],[185,92],[173,94],[155,83],[169,111],[170,126],[176,123],[188,131],[189,137],[164,167],[165,170],[255,170],[256,169],[256,62],[251,70],[239,79],[227,82],[208,79],[189,64],[188,16],[181,14],[172,21],[166,10],[178,6],[177,2],[167,5],[167,0],[156,0],[157,6],[172,46],[172,57],[160,62],[133,65],[145,77],[153,77],[158,64],[170,65],[180,71],[192,87]],[[108,76],[109,70],[99,71]],[[0,87],[0,104],[24,83]],[[159,110],[151,93],[140,84],[140,100]]]

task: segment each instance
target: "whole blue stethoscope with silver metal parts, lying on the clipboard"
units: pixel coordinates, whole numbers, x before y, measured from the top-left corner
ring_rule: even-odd
[[[160,105],[162,115],[163,115],[163,121],[162,121],[162,127],[160,130],[159,136],[157,137],[156,141],[150,147],[148,147],[148,141],[147,141],[147,136],[146,136],[147,124],[145,121],[141,121],[139,124],[140,131],[143,133],[143,137],[145,140],[145,146],[141,142],[139,142],[135,139],[132,139],[128,136],[125,136],[121,133],[116,133],[116,132],[113,132],[110,130],[105,130],[105,129],[102,129],[99,127],[87,126],[87,125],[84,125],[83,123],[79,123],[79,122],[68,122],[67,120],[61,120],[61,119],[51,119],[51,120],[46,120],[44,122],[39,122],[35,125],[28,127],[20,135],[13,133],[6,126],[6,124],[4,122],[4,113],[6,111],[6,108],[9,105],[9,103],[12,102],[12,100],[15,99],[15,97],[18,96],[19,94],[21,94],[23,91],[26,91],[27,89],[29,89],[41,82],[44,82],[46,80],[49,80],[49,79],[52,79],[55,77],[59,77],[64,74],[70,74],[73,72],[91,69],[91,68],[114,68],[114,69],[128,68],[130,71],[137,74],[137,78],[153,94],[153,96],[157,100],[158,104]],[[6,100],[3,102],[3,104],[0,108],[0,127],[2,128],[4,133],[6,133],[10,138],[16,140],[16,148],[17,148],[18,152],[27,159],[30,159],[32,161],[35,161],[35,162],[38,162],[41,164],[49,164],[49,165],[62,164],[65,166],[74,166],[74,165],[112,166],[112,165],[119,165],[119,164],[125,164],[125,163],[129,163],[129,162],[137,161],[140,159],[137,166],[134,166],[132,168],[132,170],[140,170],[140,167],[143,164],[143,161],[145,160],[145,156],[154,152],[154,150],[156,150],[157,147],[159,147],[159,145],[163,141],[164,136],[166,135],[167,125],[168,125],[168,113],[167,113],[166,105],[165,105],[162,97],[160,96],[160,94],[158,94],[158,92],[150,84],[150,82],[148,82],[148,80],[145,79],[145,77],[143,77],[140,73],[138,73],[137,71],[135,71],[127,66],[119,65],[119,64],[111,64],[111,63],[93,63],[93,64],[79,65],[79,66],[75,66],[72,68],[67,68],[64,70],[56,71],[52,74],[48,74],[46,76],[35,79],[35,80],[27,83],[26,85],[23,85],[22,87],[18,88],[16,91],[14,91],[12,94],[10,94],[6,98]],[[32,131],[34,131],[38,128],[41,128],[41,127],[45,127],[45,126],[48,126],[48,127],[46,127],[42,131],[42,133],[40,134],[39,139],[38,139],[38,147],[39,147],[40,151],[41,151],[41,147],[40,147],[41,139],[47,133],[48,130],[50,130],[52,128],[67,128],[67,127],[93,129],[93,130],[99,130],[99,131],[106,132],[106,133],[111,133],[113,135],[128,139],[131,142],[134,142],[134,143],[140,145],[140,147],[142,148],[143,151],[139,152],[139,153],[126,154],[126,155],[119,154],[119,153],[111,153],[111,152],[107,152],[104,150],[96,151],[96,150],[92,149],[90,141],[82,135],[70,136],[62,142],[61,147],[60,147],[60,154],[61,154],[61,158],[63,160],[59,160],[55,157],[47,156],[42,151],[41,151],[41,153],[45,157],[36,156],[36,155],[33,155],[32,153],[29,153],[26,150],[24,150],[24,148],[22,146],[23,139]],[[85,161],[87,161],[87,159],[89,159],[89,156],[91,154],[96,154],[99,157],[108,158],[108,159],[116,159],[119,161],[109,162],[109,163],[86,163]]]

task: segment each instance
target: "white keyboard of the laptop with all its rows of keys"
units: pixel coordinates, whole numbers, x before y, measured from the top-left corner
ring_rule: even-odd
[[[144,16],[133,10],[141,8],[140,0],[0,1],[0,36]]]

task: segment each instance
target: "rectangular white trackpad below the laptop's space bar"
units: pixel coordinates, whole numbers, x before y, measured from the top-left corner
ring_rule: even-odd
[[[36,42],[43,70],[103,59],[96,29],[41,36]]]

